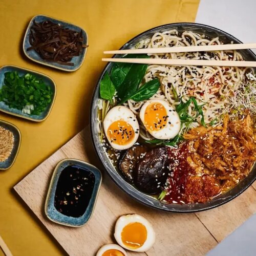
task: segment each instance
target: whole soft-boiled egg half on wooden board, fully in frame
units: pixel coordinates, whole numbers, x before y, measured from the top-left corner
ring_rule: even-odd
[[[114,236],[123,248],[140,252],[150,249],[156,240],[150,222],[137,214],[121,216],[116,222]]]

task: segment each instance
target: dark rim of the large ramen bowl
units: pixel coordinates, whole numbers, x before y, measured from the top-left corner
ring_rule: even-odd
[[[157,27],[154,27],[154,28],[151,28],[151,29],[148,29],[146,31],[143,31],[141,32],[140,34],[134,36],[132,39],[130,39],[129,41],[127,41],[119,50],[122,50],[126,45],[129,45],[133,40],[141,37],[143,34],[146,34],[148,32],[152,32],[153,30],[156,30],[156,29],[164,29],[166,27],[169,27],[169,26],[172,26],[172,27],[177,27],[177,26],[198,26],[199,28],[205,28],[205,29],[210,29],[210,30],[214,30],[214,31],[218,31],[226,36],[229,36],[233,39],[236,39],[240,44],[242,44],[242,41],[239,40],[238,38],[234,37],[233,35],[221,30],[221,29],[218,29],[218,28],[215,28],[215,27],[212,27],[212,26],[209,26],[209,25],[205,25],[205,24],[200,24],[200,23],[188,23],[188,22],[184,22],[184,23],[169,23],[169,24],[164,24],[164,25],[160,25],[160,26],[157,26]],[[250,55],[252,55],[255,59],[256,59],[256,54],[254,54],[252,52],[252,50],[250,49],[247,49],[247,51],[250,53]],[[114,54],[112,56],[112,58],[115,58],[118,54]],[[105,74],[106,70],[108,69],[108,67],[111,65],[112,62],[108,62],[105,67],[103,68],[103,70],[101,71],[100,73],[100,76],[99,76],[99,79],[96,83],[96,86],[94,88],[94,92],[93,92],[93,95],[92,95],[92,99],[91,99],[91,106],[90,106],[90,133],[91,133],[91,138],[92,138],[92,143],[93,143],[93,147],[94,147],[94,150],[96,152],[96,155],[97,155],[97,158],[99,159],[100,163],[102,163],[103,165],[103,168],[104,170],[106,171],[106,173],[109,175],[109,177],[114,181],[114,183],[122,190],[124,191],[125,194],[129,195],[131,198],[133,198],[134,200],[136,200],[137,202],[141,203],[142,205],[145,205],[147,207],[150,207],[150,208],[153,208],[153,209],[157,209],[157,210],[160,210],[160,211],[165,211],[165,212],[176,212],[176,213],[195,213],[195,212],[200,212],[200,211],[205,211],[205,210],[209,210],[209,209],[213,209],[213,208],[216,208],[216,207],[219,207],[223,204],[226,204],[228,202],[230,202],[231,200],[233,200],[234,198],[238,197],[239,195],[241,195],[249,186],[251,186],[251,184],[256,180],[256,176],[253,177],[246,186],[244,186],[240,191],[238,191],[238,193],[230,196],[229,198],[226,198],[225,200],[221,201],[221,202],[218,202],[216,205],[206,205],[204,208],[202,209],[184,209],[184,210],[175,210],[175,209],[169,209],[169,208],[163,208],[163,207],[158,207],[156,205],[153,205],[153,204],[149,204],[143,200],[140,200],[138,199],[136,196],[134,196],[132,193],[130,193],[129,190],[126,190],[124,187],[122,187],[121,184],[119,184],[116,180],[115,180],[115,177],[111,175],[111,173],[109,172],[108,168],[105,167],[105,164],[104,162],[102,161],[101,159],[101,156],[100,154],[98,153],[98,150],[97,150],[97,146],[96,146],[96,143],[95,143],[95,137],[94,137],[94,119],[93,119],[93,116],[92,116],[92,113],[93,113],[93,104],[94,104],[94,101],[95,101],[95,98],[96,98],[96,94],[97,94],[97,89],[99,87],[99,84],[100,84],[100,81],[103,77],[103,75]],[[98,135],[96,135],[98,136]],[[255,167],[255,163],[254,165],[252,166],[252,169]],[[114,167],[113,167],[114,168]],[[251,169],[251,171],[252,171]],[[142,192],[140,192],[142,193]],[[144,193],[142,193],[144,194]]]

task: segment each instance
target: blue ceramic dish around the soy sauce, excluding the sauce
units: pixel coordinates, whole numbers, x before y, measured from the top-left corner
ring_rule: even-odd
[[[57,209],[54,206],[54,197],[55,197],[59,176],[62,170],[69,165],[76,165],[78,167],[81,167],[84,170],[84,172],[91,172],[95,176],[94,188],[93,188],[89,205],[86,211],[84,212],[84,214],[78,218],[63,215],[59,211],[57,211]],[[87,222],[90,220],[94,211],[95,203],[98,197],[99,188],[101,184],[101,179],[102,178],[101,178],[100,170],[89,163],[86,163],[77,159],[64,159],[60,161],[55,167],[55,170],[53,172],[52,179],[50,182],[50,187],[48,190],[46,204],[45,204],[46,216],[53,222],[66,225],[66,226],[71,226],[71,227],[80,227],[87,224]]]

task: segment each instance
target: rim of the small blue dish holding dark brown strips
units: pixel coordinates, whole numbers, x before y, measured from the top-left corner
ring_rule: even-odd
[[[55,17],[49,16],[49,15],[45,15],[45,14],[36,14],[35,16],[33,16],[33,17],[31,18],[31,20],[30,20],[30,22],[29,22],[29,24],[28,24],[28,27],[27,27],[27,29],[26,29],[24,39],[23,39],[22,48],[23,48],[23,52],[24,52],[24,54],[26,55],[26,57],[29,58],[29,59],[31,59],[32,61],[35,61],[35,62],[41,64],[41,65],[45,65],[45,66],[48,66],[48,67],[51,67],[51,68],[54,68],[54,69],[59,69],[59,70],[66,71],[66,72],[74,72],[74,71],[77,71],[78,69],[80,69],[81,66],[82,66],[82,64],[83,64],[83,62],[84,62],[84,59],[86,58],[86,54],[87,54],[87,49],[88,49],[88,47],[84,49],[84,54],[83,54],[83,56],[82,56],[82,61],[81,61],[80,65],[78,65],[78,67],[75,68],[75,69],[67,69],[67,68],[65,68],[65,67],[58,67],[58,66],[53,65],[51,62],[49,62],[49,63],[46,62],[46,63],[45,63],[45,62],[42,62],[42,60],[37,60],[37,59],[34,59],[33,57],[30,57],[30,56],[29,56],[29,54],[27,53],[27,51],[26,51],[26,49],[25,49],[25,41],[26,41],[26,38],[28,37],[29,28],[31,27],[31,24],[32,24],[33,20],[34,20],[37,16],[44,16],[44,17],[47,17],[47,18],[55,19],[55,20],[57,20],[57,21],[59,21],[59,22],[62,22],[62,23],[66,23],[66,24],[68,24],[68,25],[73,25],[73,26],[78,27],[78,28],[81,29],[81,30],[84,32],[84,34],[86,35],[86,38],[87,38],[86,42],[87,42],[87,45],[88,45],[88,41],[89,41],[89,40],[88,40],[88,34],[87,34],[87,32],[86,32],[83,28],[81,28],[80,26],[78,26],[78,25],[76,25],[76,24],[74,24],[74,23],[71,23],[71,22],[67,22],[67,20],[63,20],[63,19],[60,19],[60,18],[55,18]],[[63,65],[63,66],[64,66],[64,65]]]

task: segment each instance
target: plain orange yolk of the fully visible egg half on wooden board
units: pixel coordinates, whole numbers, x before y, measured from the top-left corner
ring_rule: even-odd
[[[139,222],[126,225],[121,232],[123,244],[132,249],[141,247],[145,243],[146,237],[146,227]]]

